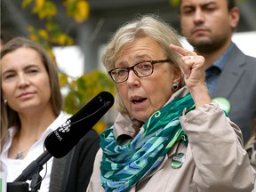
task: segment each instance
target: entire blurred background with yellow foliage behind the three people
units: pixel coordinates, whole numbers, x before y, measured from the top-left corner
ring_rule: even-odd
[[[256,1],[236,2],[241,19],[233,40],[256,57]],[[1,0],[1,34],[44,45],[60,70],[65,110],[74,114],[100,91],[115,92],[100,58],[116,29],[136,14],[155,13],[180,31],[178,4],[179,0]],[[183,44],[191,49],[185,39]]]

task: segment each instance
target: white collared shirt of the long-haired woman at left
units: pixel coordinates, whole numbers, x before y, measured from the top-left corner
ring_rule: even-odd
[[[41,156],[44,153],[44,140],[49,133],[57,129],[61,124],[64,124],[68,116],[64,112],[60,112],[60,115],[50,124],[41,137],[36,140],[36,142],[28,149],[28,154],[24,159],[11,159],[8,158],[8,150],[11,148],[12,139],[15,133],[17,132],[15,127],[10,127],[8,129],[6,142],[4,143],[3,151],[0,155],[0,172],[6,173],[6,181],[13,182],[16,178],[20,176],[20,173],[30,164],[35,161],[38,156]],[[51,158],[43,166],[43,170],[40,172],[41,177],[43,178],[41,183],[40,192],[48,192],[50,185],[50,178],[52,172],[52,160]],[[29,186],[30,181],[27,180]]]

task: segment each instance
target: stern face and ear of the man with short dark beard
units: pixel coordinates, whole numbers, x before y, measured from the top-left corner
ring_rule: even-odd
[[[180,4],[182,33],[198,52],[220,49],[230,41],[238,20],[237,9],[228,12],[227,0],[182,0]]]

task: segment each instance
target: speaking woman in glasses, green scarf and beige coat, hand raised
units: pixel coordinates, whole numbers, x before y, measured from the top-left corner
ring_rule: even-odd
[[[212,102],[204,58],[164,20],[146,15],[119,28],[103,63],[119,114],[100,135],[87,191],[252,191],[241,131]]]

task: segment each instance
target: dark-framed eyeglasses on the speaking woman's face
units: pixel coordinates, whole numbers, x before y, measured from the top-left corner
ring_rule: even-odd
[[[127,81],[130,70],[132,70],[136,76],[146,77],[153,73],[154,64],[164,62],[171,62],[171,60],[146,60],[136,63],[129,68],[114,68],[108,71],[108,74],[116,84],[121,84]]]

